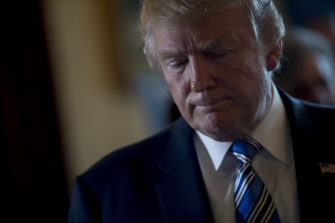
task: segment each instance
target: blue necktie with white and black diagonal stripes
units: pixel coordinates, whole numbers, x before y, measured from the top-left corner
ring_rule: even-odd
[[[234,190],[237,223],[280,223],[272,197],[251,165],[261,147],[247,137],[234,141],[228,151],[240,161]]]

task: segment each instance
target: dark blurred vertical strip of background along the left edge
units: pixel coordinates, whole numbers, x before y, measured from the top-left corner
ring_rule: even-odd
[[[1,5],[1,219],[65,222],[67,179],[40,2]]]

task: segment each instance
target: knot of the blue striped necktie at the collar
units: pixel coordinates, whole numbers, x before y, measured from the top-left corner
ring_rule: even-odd
[[[251,137],[246,137],[234,141],[229,151],[237,157],[241,163],[251,164],[258,151],[261,149],[261,144]]]

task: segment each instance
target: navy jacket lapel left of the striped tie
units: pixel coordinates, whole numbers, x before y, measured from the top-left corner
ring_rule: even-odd
[[[193,143],[184,119],[174,128],[159,168],[167,178],[156,185],[166,222],[214,222]]]

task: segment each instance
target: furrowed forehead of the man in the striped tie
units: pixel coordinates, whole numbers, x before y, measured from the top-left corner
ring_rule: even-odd
[[[158,53],[172,48],[201,50],[221,42],[237,44],[252,36],[254,33],[251,22],[243,8],[225,9],[196,23],[163,26],[154,31]]]

